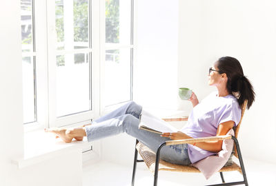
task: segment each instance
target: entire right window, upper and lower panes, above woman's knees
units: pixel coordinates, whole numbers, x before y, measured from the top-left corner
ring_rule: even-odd
[[[132,1],[106,0],[103,100],[114,105],[132,99]]]

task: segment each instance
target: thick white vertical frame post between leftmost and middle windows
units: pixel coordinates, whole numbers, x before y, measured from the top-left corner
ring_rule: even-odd
[[[47,83],[47,35],[46,32],[46,0],[40,1],[39,3],[35,3],[32,0],[32,30],[34,31],[34,40],[35,52],[32,52],[32,55],[36,58],[35,63],[35,89],[36,92],[36,119],[33,123],[27,123],[24,125],[24,132],[29,132],[32,130],[37,130],[39,128],[48,126],[48,83]],[[36,12],[40,12],[37,14]],[[26,53],[27,54],[27,53]],[[24,56],[24,54],[23,54]],[[38,62],[39,61],[39,62]]]

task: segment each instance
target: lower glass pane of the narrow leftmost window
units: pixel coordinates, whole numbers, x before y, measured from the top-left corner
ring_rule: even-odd
[[[33,57],[23,57],[23,123],[35,121],[34,63]]]

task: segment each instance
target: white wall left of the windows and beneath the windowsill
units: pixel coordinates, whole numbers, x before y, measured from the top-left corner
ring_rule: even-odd
[[[23,109],[20,1],[0,6],[0,185],[81,185],[81,153],[63,154],[18,169],[12,160],[23,158]],[[35,139],[34,139],[35,140]],[[68,169],[68,166],[72,169]]]

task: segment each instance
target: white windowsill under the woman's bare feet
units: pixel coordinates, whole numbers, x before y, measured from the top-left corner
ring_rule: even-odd
[[[27,132],[24,134],[24,157],[12,163],[21,169],[66,154],[68,151],[79,150],[81,152],[88,145],[87,138],[83,138],[83,141],[64,143],[60,138],[55,138],[53,134],[43,130]]]

